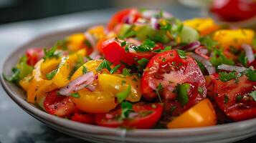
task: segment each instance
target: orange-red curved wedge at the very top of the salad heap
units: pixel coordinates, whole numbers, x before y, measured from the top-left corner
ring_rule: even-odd
[[[108,30],[113,30],[117,24],[125,23],[128,21],[129,24],[133,24],[141,17],[138,9],[123,9],[114,14],[108,22]]]

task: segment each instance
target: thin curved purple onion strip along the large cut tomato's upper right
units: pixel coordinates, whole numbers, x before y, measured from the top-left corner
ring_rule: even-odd
[[[208,59],[204,59],[202,56],[199,56],[198,54],[194,53],[191,53],[190,56],[196,59],[197,61],[200,61],[204,65],[205,69],[207,69],[209,75],[214,74],[216,72],[215,67],[212,66],[212,63]]]

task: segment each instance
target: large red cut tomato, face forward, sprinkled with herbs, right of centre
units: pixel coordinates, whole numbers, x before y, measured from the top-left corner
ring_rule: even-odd
[[[188,92],[189,102],[184,106],[177,100],[174,90],[177,84],[190,84]],[[148,100],[157,97],[156,88],[162,85],[161,98],[166,103],[166,110],[175,107],[173,115],[179,115],[189,109],[207,94],[206,82],[202,71],[194,59],[186,56],[181,58],[178,51],[170,50],[153,56],[148,62],[141,79],[143,97]],[[199,88],[201,92],[199,93]]]

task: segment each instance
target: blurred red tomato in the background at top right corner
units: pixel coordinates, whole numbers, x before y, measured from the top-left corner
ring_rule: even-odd
[[[241,21],[255,16],[255,6],[252,0],[214,0],[211,11],[222,20]]]

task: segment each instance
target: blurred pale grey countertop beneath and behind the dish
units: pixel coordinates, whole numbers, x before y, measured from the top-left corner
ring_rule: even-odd
[[[182,9],[175,6],[166,7],[174,16],[181,19],[199,16],[195,9]],[[182,9],[182,10],[181,10]],[[12,24],[0,25],[0,60],[8,55],[12,49],[24,44],[34,36],[49,31],[69,29],[100,21],[107,21],[116,9],[99,11],[85,11],[76,14],[54,16],[47,19],[21,21]],[[66,134],[50,129],[24,112],[6,95],[0,87],[0,143],[43,143],[43,142],[84,142]],[[256,137],[251,137],[242,142],[256,142]]]

